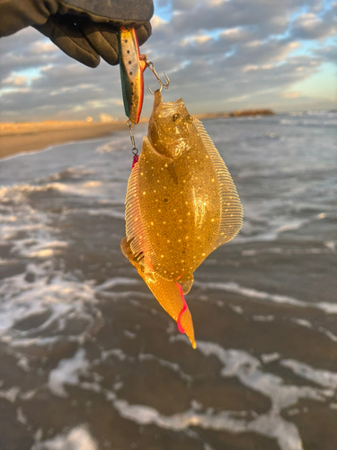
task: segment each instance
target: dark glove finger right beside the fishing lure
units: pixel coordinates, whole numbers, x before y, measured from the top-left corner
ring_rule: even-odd
[[[119,63],[116,28],[109,23],[83,21],[81,30],[95,51],[111,66]]]

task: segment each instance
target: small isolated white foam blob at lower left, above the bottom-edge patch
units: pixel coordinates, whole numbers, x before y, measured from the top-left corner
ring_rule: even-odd
[[[79,375],[85,374],[88,368],[89,362],[85,358],[85,350],[80,348],[72,358],[61,359],[58,362],[58,367],[49,373],[49,390],[59,397],[67,397],[65,384],[77,384]]]

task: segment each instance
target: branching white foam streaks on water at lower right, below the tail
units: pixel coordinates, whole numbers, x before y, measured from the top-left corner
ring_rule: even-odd
[[[183,340],[189,345],[182,336],[177,336],[174,340]],[[202,413],[200,410],[203,409],[203,406],[200,402],[192,401],[190,410],[172,416],[164,416],[159,411],[146,405],[130,405],[128,401],[118,399],[115,394],[111,395],[109,399],[113,407],[119,411],[121,417],[132,420],[138,425],[155,424],[159,428],[173,431],[187,431],[190,427],[200,427],[231,433],[255,432],[264,437],[275,439],[281,450],[303,450],[303,443],[296,425],[285,420],[281,411],[288,409],[290,406],[295,407],[300,399],[313,401],[331,399],[333,396],[332,389],[337,387],[337,374],[316,370],[294,360],[283,360],[282,365],[288,365],[289,368],[306,379],[316,381],[324,388],[331,389],[296,386],[284,383],[275,374],[265,373],[259,359],[243,350],[226,350],[216,343],[199,341],[197,351],[200,351],[206,358],[216,356],[223,365],[222,376],[236,377],[244,386],[269,398],[271,401],[270,410],[259,415],[256,413],[249,414],[248,411],[223,410],[215,413],[214,410],[208,408],[206,412]],[[122,356],[124,359],[127,357],[123,352]],[[279,354],[262,355],[261,357],[264,364],[268,364],[279,359]],[[155,356],[142,356],[141,359],[154,360],[157,358]],[[205,360],[205,364],[207,364],[207,360]],[[179,366],[178,368],[175,365],[173,367],[172,363],[167,366],[174,371],[180,370]],[[297,409],[293,408],[292,410]]]

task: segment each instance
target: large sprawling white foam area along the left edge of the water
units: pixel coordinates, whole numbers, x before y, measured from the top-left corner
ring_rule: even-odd
[[[0,304],[0,338],[12,346],[47,345],[58,339],[81,341],[101,320],[100,311],[93,306],[96,302],[93,284],[79,282],[73,275],[64,274],[54,266],[51,257],[64,251],[68,242],[55,239],[52,234],[54,229],[49,227],[48,214],[32,209],[30,203],[26,202],[26,193],[51,188],[62,190],[66,187],[64,184],[49,183],[44,186],[24,184],[0,189],[4,201],[2,210],[8,216],[13,215],[14,211],[16,217],[16,220],[0,223],[4,242],[13,246],[12,251],[17,259],[42,259],[29,264],[25,273],[5,278],[0,286],[0,295],[4,300]],[[33,276],[33,283],[29,282],[29,278],[26,280],[27,274]],[[41,314],[46,318],[39,327],[15,329],[17,321]],[[64,333],[68,320],[81,320],[82,332],[77,329],[75,335]]]

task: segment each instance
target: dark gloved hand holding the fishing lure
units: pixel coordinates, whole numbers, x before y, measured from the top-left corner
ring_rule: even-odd
[[[136,28],[142,45],[153,14],[152,0],[0,0],[0,37],[31,25],[86,66],[97,67],[100,56],[114,66],[116,30]]]

